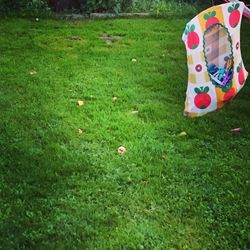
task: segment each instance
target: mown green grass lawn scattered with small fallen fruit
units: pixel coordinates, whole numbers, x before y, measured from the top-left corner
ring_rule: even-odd
[[[250,81],[183,117],[187,21],[1,19],[0,249],[248,249]]]

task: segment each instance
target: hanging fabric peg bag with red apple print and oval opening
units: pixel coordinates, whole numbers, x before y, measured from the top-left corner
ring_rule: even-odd
[[[182,40],[187,50],[188,87],[184,115],[196,117],[221,108],[240,91],[248,72],[240,49],[241,1],[213,6],[187,23]]]

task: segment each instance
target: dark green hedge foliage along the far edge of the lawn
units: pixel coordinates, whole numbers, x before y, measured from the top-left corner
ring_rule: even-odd
[[[187,6],[185,2],[192,3]],[[223,2],[214,1],[216,3]],[[245,1],[248,2],[248,1]],[[42,13],[49,9],[53,11],[76,10],[83,13],[91,12],[133,12],[133,11],[164,11],[171,7],[191,8],[197,3],[211,4],[209,0],[0,0],[1,13]],[[49,8],[50,7],[50,8]]]

